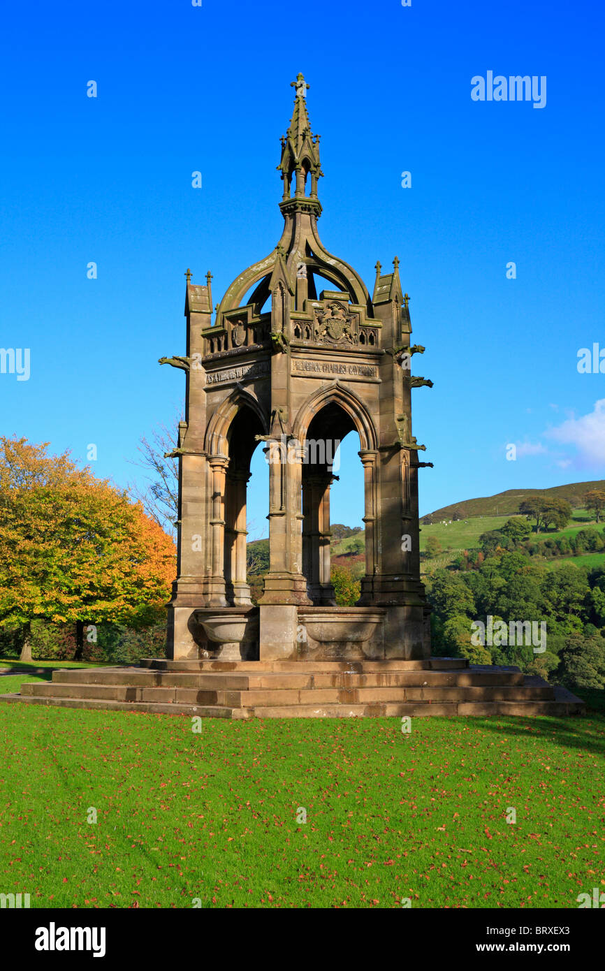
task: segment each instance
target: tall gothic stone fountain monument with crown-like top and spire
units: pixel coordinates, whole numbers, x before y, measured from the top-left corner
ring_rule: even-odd
[[[398,259],[388,274],[377,263],[370,297],[319,239],[319,140],[301,97],[283,144],[284,230],[275,250],[235,278],[216,314],[211,274],[206,285],[186,274],[186,356],[169,361],[186,375],[178,578],[169,610],[175,659],[430,654],[419,553],[423,446],[411,417],[411,389],[426,382],[409,369],[423,349],[410,348]],[[334,288],[319,290],[316,276]],[[332,468],[325,455],[309,461],[308,445],[349,431],[359,436],[364,471],[366,562],[360,598],[343,608],[330,583]],[[259,441],[269,463],[269,570],[254,606],[246,487]]]

